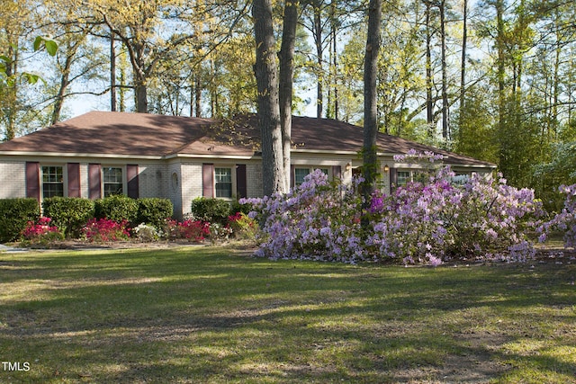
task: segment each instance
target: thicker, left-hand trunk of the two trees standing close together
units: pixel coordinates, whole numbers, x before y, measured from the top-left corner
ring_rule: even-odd
[[[252,5],[256,38],[258,118],[257,128],[262,134],[262,180],[266,196],[287,191],[284,177],[280,102],[275,39],[270,0],[254,0]]]

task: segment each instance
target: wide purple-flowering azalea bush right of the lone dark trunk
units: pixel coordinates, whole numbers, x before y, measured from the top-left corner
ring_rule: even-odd
[[[457,185],[454,176],[445,167],[429,183],[410,183],[383,202],[373,199],[367,248],[404,263],[454,257],[523,261],[534,255],[525,234],[542,210],[533,191],[479,175]]]

